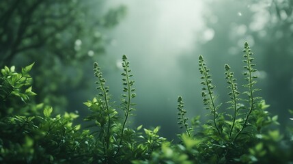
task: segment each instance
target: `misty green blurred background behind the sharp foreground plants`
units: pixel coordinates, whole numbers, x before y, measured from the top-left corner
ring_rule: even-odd
[[[217,101],[226,102],[229,96],[224,64],[232,67],[238,83],[245,82],[242,80],[242,49],[248,41],[259,70],[257,87],[262,91],[258,94],[270,105],[268,111],[279,115],[281,124],[292,126],[288,109],[293,107],[293,1],[78,2],[68,1],[72,3],[72,10],[68,10],[71,20],[67,17],[52,20],[59,21],[56,25],[60,27],[65,20],[71,23],[68,27],[64,25],[61,31],[58,29],[60,32],[55,32],[54,39],[32,49],[16,51],[11,61],[8,58],[13,53],[1,47],[1,66],[36,62],[33,88],[40,95],[35,100],[37,103],[53,106],[56,113],[79,111],[79,120],[83,120],[89,112],[83,102],[98,94],[93,71],[93,63],[97,61],[107,79],[111,100],[120,105],[121,62],[125,54],[137,89],[137,97],[133,99],[137,110],[130,118],[133,126],[161,126],[163,137],[176,138],[176,133],[181,132],[177,124],[178,96],[183,97],[190,119],[201,115],[204,122],[209,112],[204,109],[200,95],[198,56],[204,55],[210,67],[216,85],[214,91],[219,95]],[[47,8],[48,12],[61,6],[55,3],[52,9]],[[32,18],[43,18],[42,12],[34,13]],[[11,28],[21,27],[18,19],[19,16],[12,21]],[[2,31],[10,25],[1,23]],[[35,25],[31,24],[32,31]],[[42,29],[40,27],[36,30]],[[17,34],[17,28],[12,34]],[[36,30],[31,33],[43,36],[51,29],[42,29],[40,33]],[[9,43],[3,39],[5,35],[1,37],[1,45]],[[22,44],[29,45],[36,40],[30,38]],[[221,110],[225,111],[226,107],[223,103]]]

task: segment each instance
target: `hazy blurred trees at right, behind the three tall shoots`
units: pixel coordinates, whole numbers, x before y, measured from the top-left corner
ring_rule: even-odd
[[[199,41],[194,54],[205,55],[211,70],[224,70],[224,64],[229,62],[239,74],[241,70],[235,70],[240,64],[236,59],[242,54],[239,49],[245,40],[249,41],[257,55],[258,85],[262,85],[264,99],[271,105],[270,111],[280,116],[281,124],[288,122],[288,109],[293,107],[293,1],[223,0],[206,1],[206,5],[206,29],[197,33]],[[187,57],[194,59],[182,58],[184,66],[195,61],[197,55]],[[194,74],[195,68],[185,71],[188,70]],[[222,76],[213,75],[214,81],[223,81],[216,84],[219,98],[225,98],[227,90]]]

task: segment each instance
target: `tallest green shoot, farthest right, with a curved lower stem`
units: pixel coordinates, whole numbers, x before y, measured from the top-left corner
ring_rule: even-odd
[[[244,94],[247,94],[247,96],[249,98],[249,111],[248,111],[247,116],[245,118],[245,122],[242,125],[242,128],[240,129],[240,131],[237,133],[236,137],[234,138],[234,141],[237,139],[237,137],[240,135],[240,133],[242,133],[242,131],[247,126],[247,122],[249,120],[249,115],[255,109],[255,100],[258,99],[257,97],[254,97],[254,94],[253,94],[254,92],[258,91],[257,89],[253,88],[253,85],[255,85],[255,83],[257,82],[254,80],[257,78],[257,76],[253,76],[253,72],[256,72],[257,70],[255,68],[253,68],[255,66],[255,64],[253,64],[253,57],[251,57],[251,55],[253,55],[253,53],[251,52],[250,46],[247,42],[245,42],[245,49],[243,50],[243,52],[245,53],[243,55],[243,57],[245,57],[245,60],[243,60],[243,62],[246,64],[246,66],[244,66],[244,68],[246,70],[244,75],[246,76],[245,80],[248,82],[246,85],[243,85],[243,86],[248,87],[248,89],[249,89],[247,92],[244,92]]]

